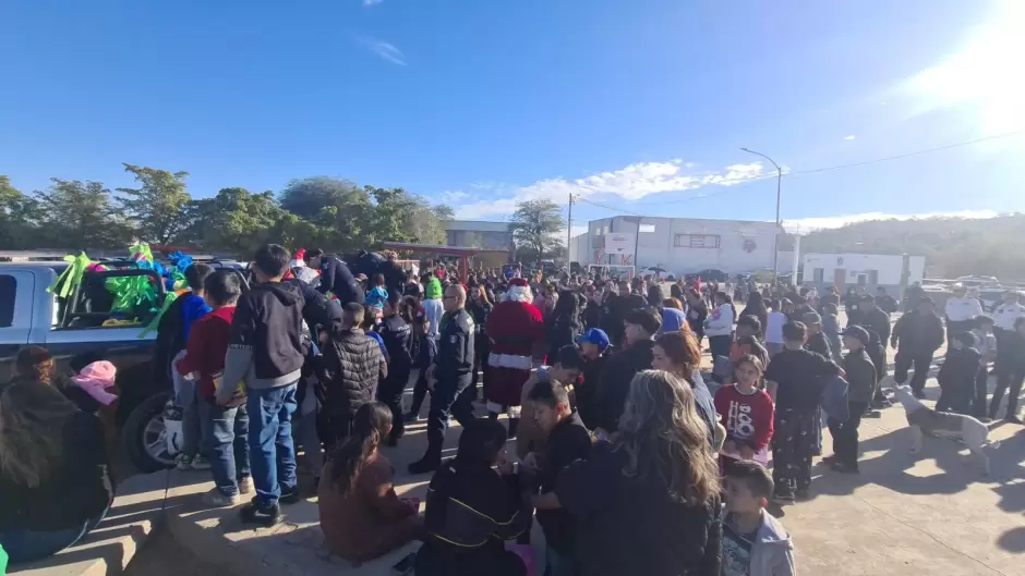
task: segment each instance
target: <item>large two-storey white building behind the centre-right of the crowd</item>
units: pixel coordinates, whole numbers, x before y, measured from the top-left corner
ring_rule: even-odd
[[[588,265],[659,266],[668,273],[706,269],[736,274],[772,269],[774,222],[619,216],[588,223],[569,259]]]

